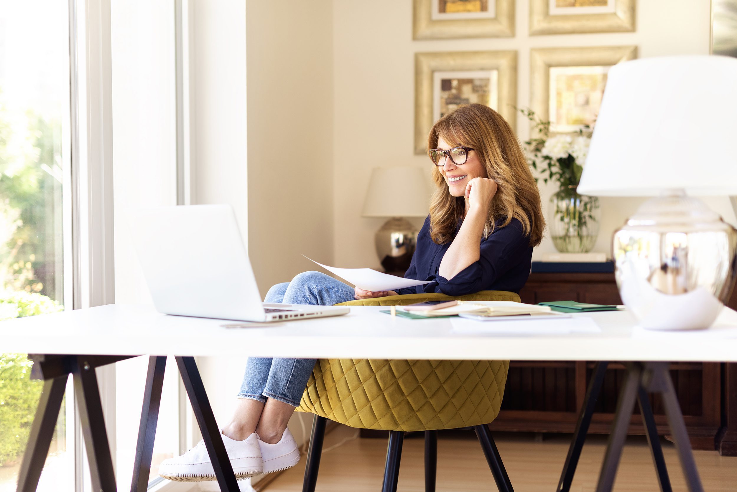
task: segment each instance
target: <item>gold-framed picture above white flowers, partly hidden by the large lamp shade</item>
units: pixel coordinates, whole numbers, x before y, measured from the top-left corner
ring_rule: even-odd
[[[553,133],[593,125],[609,68],[636,57],[637,46],[532,49],[531,108],[540,119],[550,120]]]

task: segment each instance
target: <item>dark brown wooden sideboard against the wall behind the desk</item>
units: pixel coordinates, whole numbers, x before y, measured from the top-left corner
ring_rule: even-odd
[[[614,274],[531,274],[520,292],[522,302],[576,300],[621,304]],[[737,307],[733,295],[730,307]],[[511,361],[502,409],[492,430],[573,432],[593,362]],[[608,434],[624,367],[611,364],[590,432]],[[737,455],[737,364],[674,363],[671,375],[695,449],[719,449]],[[652,398],[655,420],[666,435],[668,425],[660,398]],[[640,415],[632,417],[631,434],[644,434]],[[667,436],[666,436],[667,437]]]

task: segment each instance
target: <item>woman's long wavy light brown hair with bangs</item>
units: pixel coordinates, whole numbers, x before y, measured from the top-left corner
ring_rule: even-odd
[[[450,145],[474,149],[486,169],[486,177],[497,183],[483,237],[489,237],[498,218],[505,218],[500,227],[517,218],[524,234],[530,237],[530,246],[537,246],[545,229],[540,194],[509,123],[488,106],[469,104],[446,114],[433,125],[427,137],[428,152],[438,147],[440,138]],[[437,189],[430,202],[430,237],[435,243],[444,244],[455,237],[458,221],[466,213],[466,202],[462,196],[450,195],[438,166],[433,170],[433,181]]]

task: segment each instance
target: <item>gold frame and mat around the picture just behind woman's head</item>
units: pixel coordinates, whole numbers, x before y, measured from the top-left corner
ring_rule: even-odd
[[[489,89],[495,94],[496,101],[489,105],[496,106],[511,128],[516,128],[517,104],[517,51],[481,51],[481,52],[433,52],[415,54],[415,153],[427,152],[427,134],[437,118],[439,97],[437,75],[447,74],[449,77],[467,77],[468,73],[487,72],[494,83]],[[493,86],[493,87],[492,87]]]

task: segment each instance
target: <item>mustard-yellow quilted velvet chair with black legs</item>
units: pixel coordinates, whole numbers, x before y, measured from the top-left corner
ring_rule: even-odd
[[[406,305],[430,300],[515,301],[514,292],[481,291],[461,297],[408,294],[340,305]],[[418,320],[421,323],[422,320]],[[400,361],[319,359],[297,412],[315,414],[303,492],[314,492],[327,419],[359,429],[389,431],[384,492],[397,491],[405,432],[425,432],[425,491],[435,491],[437,431],[472,427],[499,491],[512,492],[486,424],[498,413],[509,361]]]

